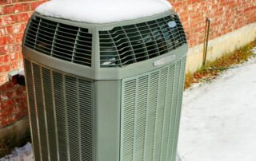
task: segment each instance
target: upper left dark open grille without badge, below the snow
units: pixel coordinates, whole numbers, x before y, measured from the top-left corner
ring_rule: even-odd
[[[85,28],[34,17],[28,25],[25,45],[50,57],[91,66],[92,34]]]

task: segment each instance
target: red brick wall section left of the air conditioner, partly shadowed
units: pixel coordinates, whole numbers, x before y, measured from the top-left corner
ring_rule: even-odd
[[[8,82],[22,67],[22,36],[33,10],[43,1],[0,0],[0,128],[27,116],[25,88]]]

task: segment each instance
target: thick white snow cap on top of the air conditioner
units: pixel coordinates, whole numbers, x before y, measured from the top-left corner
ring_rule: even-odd
[[[44,16],[75,22],[110,23],[145,18],[172,9],[166,0],[52,0],[38,6]]]

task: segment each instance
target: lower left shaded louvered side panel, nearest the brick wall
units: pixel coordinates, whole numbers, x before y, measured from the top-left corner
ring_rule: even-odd
[[[25,69],[35,159],[94,161],[93,82],[27,59]]]

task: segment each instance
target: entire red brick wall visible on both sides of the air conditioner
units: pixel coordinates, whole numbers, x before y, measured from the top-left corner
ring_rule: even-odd
[[[33,10],[45,0],[0,0],[0,127],[27,115],[24,88],[7,82],[22,67],[22,34]],[[256,22],[255,0],[170,0],[181,16],[190,47],[202,44],[206,18],[210,39]]]

